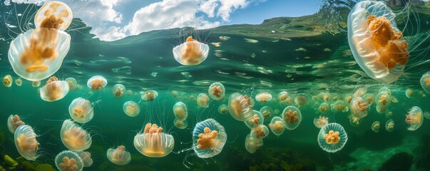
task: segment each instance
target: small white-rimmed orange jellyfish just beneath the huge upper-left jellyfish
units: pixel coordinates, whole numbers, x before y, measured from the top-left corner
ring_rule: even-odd
[[[46,81],[45,86],[40,90],[42,100],[52,102],[64,98],[68,93],[68,83],[58,81],[56,77],[51,77]]]

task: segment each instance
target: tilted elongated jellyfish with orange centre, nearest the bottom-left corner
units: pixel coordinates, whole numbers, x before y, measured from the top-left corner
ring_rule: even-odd
[[[36,140],[36,133],[29,125],[20,125],[15,130],[15,146],[19,154],[26,160],[36,160],[39,150],[39,142]]]

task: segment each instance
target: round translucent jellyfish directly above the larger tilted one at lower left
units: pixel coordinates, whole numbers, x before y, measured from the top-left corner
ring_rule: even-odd
[[[68,113],[78,123],[88,123],[94,116],[90,101],[83,98],[75,98],[68,106]]]

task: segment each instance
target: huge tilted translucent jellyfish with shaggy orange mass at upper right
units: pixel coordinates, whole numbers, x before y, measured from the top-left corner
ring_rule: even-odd
[[[355,61],[381,83],[397,81],[408,62],[408,44],[384,1],[360,1],[348,16],[348,41]]]

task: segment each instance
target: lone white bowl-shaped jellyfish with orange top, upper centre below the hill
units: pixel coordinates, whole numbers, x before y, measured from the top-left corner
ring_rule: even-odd
[[[185,43],[173,48],[173,56],[176,61],[184,66],[195,66],[208,57],[209,46],[205,43],[200,43],[189,36]]]

